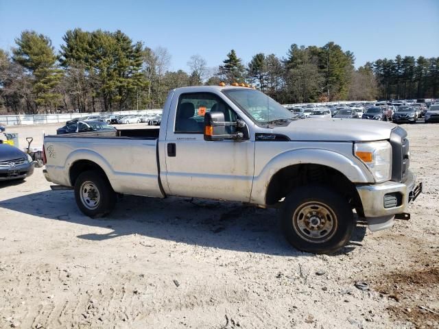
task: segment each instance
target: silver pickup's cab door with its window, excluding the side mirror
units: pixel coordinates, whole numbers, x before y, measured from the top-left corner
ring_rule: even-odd
[[[243,141],[204,141],[203,135],[206,112],[222,111],[226,121],[236,121],[237,114],[213,93],[183,93],[176,101],[165,145],[169,193],[249,202],[254,171],[250,134]]]

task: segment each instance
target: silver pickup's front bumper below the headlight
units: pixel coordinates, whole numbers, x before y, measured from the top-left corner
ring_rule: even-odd
[[[408,204],[422,192],[422,188],[422,183],[416,184],[415,175],[410,170],[402,183],[389,181],[381,184],[357,185],[364,217],[368,223],[376,225],[370,229],[390,228],[394,215],[405,212]],[[388,197],[394,198],[394,204],[386,204]]]

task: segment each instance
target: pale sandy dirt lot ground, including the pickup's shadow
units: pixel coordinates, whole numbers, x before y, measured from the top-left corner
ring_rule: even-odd
[[[126,196],[97,220],[42,169],[0,184],[0,328],[439,328],[439,125],[403,126],[412,219],[335,256],[290,247],[276,210]]]

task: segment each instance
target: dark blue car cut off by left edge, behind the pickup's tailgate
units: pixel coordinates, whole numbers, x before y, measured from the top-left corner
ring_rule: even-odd
[[[0,141],[0,181],[24,180],[34,173],[34,167],[29,154]]]

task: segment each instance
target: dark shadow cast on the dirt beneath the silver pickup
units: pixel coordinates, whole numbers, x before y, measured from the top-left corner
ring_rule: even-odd
[[[220,249],[263,254],[302,256],[289,245],[279,225],[276,209],[260,209],[238,202],[206,199],[126,196],[118,199],[115,210],[103,219],[82,215],[73,191],[43,191],[0,202],[6,208],[28,215],[81,224],[90,233],[79,239],[104,241],[118,236],[141,234],[156,239]],[[111,232],[96,232],[95,227]],[[361,246],[366,227],[358,226],[353,240],[342,253]],[[311,254],[309,254],[311,255]]]

